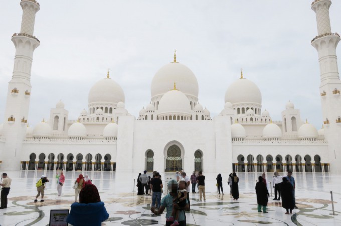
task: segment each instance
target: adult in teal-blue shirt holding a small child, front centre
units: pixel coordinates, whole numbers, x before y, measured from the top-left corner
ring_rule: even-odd
[[[163,211],[166,209],[166,218],[169,218],[170,215],[172,214],[173,208],[176,208],[179,210],[179,216],[178,216],[178,221],[177,222],[166,222],[166,226],[186,226],[186,215],[184,210],[189,210],[190,207],[188,205],[188,201],[186,200],[186,205],[185,207],[180,207],[177,203],[174,202],[174,200],[178,196],[178,183],[176,180],[172,179],[168,183],[168,189],[169,189],[169,194],[164,196],[161,200],[161,207],[156,210],[154,207],[151,208],[151,212],[154,213],[155,215],[160,215],[163,213]]]

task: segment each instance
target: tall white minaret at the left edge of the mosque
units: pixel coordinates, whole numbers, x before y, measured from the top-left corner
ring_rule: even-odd
[[[21,30],[20,33],[13,34],[11,39],[16,47],[16,55],[5,108],[3,137],[6,141],[1,151],[2,170],[20,168],[20,154],[30,105],[32,55],[40,43],[33,36],[39,4],[35,0],[21,0],[20,6],[23,9]]]

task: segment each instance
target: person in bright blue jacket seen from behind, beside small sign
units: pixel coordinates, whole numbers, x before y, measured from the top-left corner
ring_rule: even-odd
[[[86,184],[79,193],[79,203],[71,205],[67,222],[74,226],[95,225],[100,226],[109,218],[109,214],[101,201],[97,187],[93,184]]]

